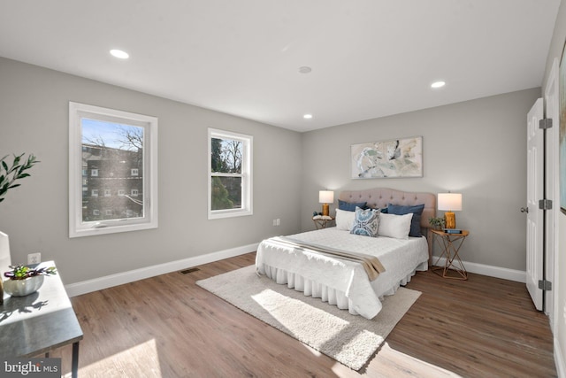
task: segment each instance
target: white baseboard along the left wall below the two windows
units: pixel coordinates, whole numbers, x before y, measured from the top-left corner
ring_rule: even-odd
[[[241,247],[232,248],[230,250],[218,251],[206,255],[195,256],[193,258],[183,258],[157,266],[148,266],[124,273],[106,275],[104,277],[95,278],[93,280],[71,283],[69,285],[65,285],[65,289],[69,297],[76,297],[82,294],[90,293],[92,291],[107,289],[111,288],[112,286],[118,286],[128,282],[143,280],[145,278],[153,277],[159,274],[176,272],[178,270],[186,269],[187,267],[199,266],[222,260],[224,258],[233,258],[234,256],[240,256],[245,253],[257,251],[257,245],[258,243],[244,245]]]

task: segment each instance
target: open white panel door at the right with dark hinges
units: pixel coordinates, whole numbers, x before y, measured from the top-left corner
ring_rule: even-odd
[[[537,310],[542,310],[542,243],[543,211],[539,199],[544,197],[544,144],[539,120],[544,117],[543,99],[539,98],[527,115],[527,289]]]

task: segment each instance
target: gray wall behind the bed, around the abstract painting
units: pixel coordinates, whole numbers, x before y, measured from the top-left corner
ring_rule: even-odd
[[[313,228],[319,189],[461,192],[456,223],[470,230],[462,258],[524,271],[526,114],[539,96],[528,89],[305,133],[302,229]],[[350,179],[351,144],[415,135],[423,136],[423,178]]]

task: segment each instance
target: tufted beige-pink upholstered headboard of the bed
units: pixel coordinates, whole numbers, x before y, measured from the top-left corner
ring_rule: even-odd
[[[436,216],[436,196],[432,193],[408,192],[395,189],[375,188],[344,190],[338,199],[346,202],[365,202],[369,207],[387,207],[387,204],[424,204],[421,228],[430,228],[428,219]]]

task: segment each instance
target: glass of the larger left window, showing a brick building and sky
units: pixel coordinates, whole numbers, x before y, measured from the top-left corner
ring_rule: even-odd
[[[83,195],[82,221],[143,217],[143,127],[86,118],[80,125],[82,167],[92,173],[85,178],[91,196]],[[134,192],[136,198],[126,195]]]

